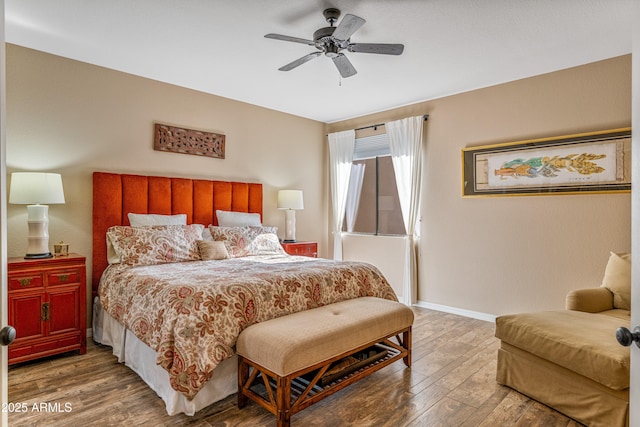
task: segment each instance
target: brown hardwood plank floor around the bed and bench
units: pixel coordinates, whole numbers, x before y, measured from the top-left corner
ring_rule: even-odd
[[[493,323],[414,312],[410,369],[390,365],[295,414],[292,425],[580,426],[495,382]],[[169,417],[164,402],[110,347],[93,342],[82,356],[10,368],[9,401],[26,410],[9,413],[11,426],[275,426],[275,417],[255,403],[239,410],[235,394],[193,417]]]

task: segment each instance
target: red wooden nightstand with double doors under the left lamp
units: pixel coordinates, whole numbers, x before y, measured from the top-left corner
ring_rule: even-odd
[[[16,339],[9,364],[87,351],[85,257],[9,258],[9,324]]]

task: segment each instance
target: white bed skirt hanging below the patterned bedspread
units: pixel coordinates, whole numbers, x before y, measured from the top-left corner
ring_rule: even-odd
[[[238,391],[238,360],[234,355],[218,365],[204,388],[188,400],[171,387],[169,374],[156,364],[156,352],[106,313],[98,298],[93,302],[93,340],[111,346],[118,362],[131,368],[164,400],[169,415],[194,415]]]

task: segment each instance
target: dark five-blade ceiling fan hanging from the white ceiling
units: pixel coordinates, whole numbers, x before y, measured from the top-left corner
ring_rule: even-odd
[[[360,53],[376,53],[383,55],[400,55],[404,50],[404,45],[401,44],[385,44],[385,43],[351,43],[351,36],[355,33],[364,23],[364,19],[359,16],[347,14],[342,18],[340,24],[334,27],[334,24],[340,17],[340,10],[336,8],[325,9],[322,12],[325,19],[329,23],[329,27],[320,28],[313,33],[313,40],[301,39],[298,37],[283,36],[281,34],[267,34],[268,39],[282,40],[287,42],[302,43],[309,46],[314,46],[318,49],[318,52],[312,52],[302,58],[280,67],[280,71],[290,71],[294,68],[311,61],[314,58],[324,54],[326,57],[331,58],[333,63],[338,68],[338,72],[344,78],[351,77],[357,73],[349,58],[342,53],[343,50],[348,52],[360,52]]]

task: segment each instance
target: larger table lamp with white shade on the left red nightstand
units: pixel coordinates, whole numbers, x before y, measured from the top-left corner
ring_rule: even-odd
[[[9,203],[27,205],[29,227],[25,259],[51,258],[49,251],[49,206],[64,203],[62,178],[57,173],[14,172]]]

